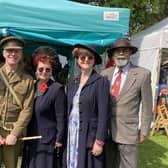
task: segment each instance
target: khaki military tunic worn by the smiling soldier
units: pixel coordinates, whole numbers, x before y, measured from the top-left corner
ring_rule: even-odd
[[[7,75],[4,66],[2,66],[2,71],[20,100],[22,107],[18,105],[0,75],[0,128],[9,131],[16,137],[23,136],[32,116],[33,78],[22,72],[21,68],[18,68],[10,77],[9,74]]]

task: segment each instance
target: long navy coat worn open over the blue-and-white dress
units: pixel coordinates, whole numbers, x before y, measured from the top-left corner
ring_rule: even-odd
[[[73,97],[79,87],[80,75],[68,82],[68,113],[72,109]],[[91,148],[96,139],[105,141],[110,119],[109,81],[93,70],[83,86],[79,98],[79,160],[85,165],[86,148]]]

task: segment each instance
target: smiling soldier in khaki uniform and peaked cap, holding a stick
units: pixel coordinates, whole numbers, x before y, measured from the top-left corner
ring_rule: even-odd
[[[18,139],[24,135],[32,115],[34,83],[20,66],[24,41],[10,36],[3,38],[0,45],[5,59],[0,68],[0,164],[16,168]]]

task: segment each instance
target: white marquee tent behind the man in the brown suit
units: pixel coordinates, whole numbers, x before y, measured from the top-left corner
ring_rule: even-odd
[[[168,18],[133,35],[132,43],[139,49],[132,57],[132,61],[136,65],[149,69],[152,73],[155,104],[158,96],[160,67],[164,61],[168,60]]]

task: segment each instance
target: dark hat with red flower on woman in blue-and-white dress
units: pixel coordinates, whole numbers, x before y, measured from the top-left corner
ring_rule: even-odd
[[[91,53],[93,53],[94,56],[95,56],[95,63],[96,63],[96,64],[101,64],[101,63],[102,63],[102,58],[101,58],[101,56],[97,53],[95,46],[83,45],[83,44],[75,44],[75,45],[73,46],[73,51],[75,51],[75,50],[77,51],[78,48],[84,48],[84,49],[86,49],[86,50],[89,50],[89,51],[90,51]],[[78,56],[78,52],[73,52],[73,55],[74,55],[75,57],[77,57],[77,56]]]

